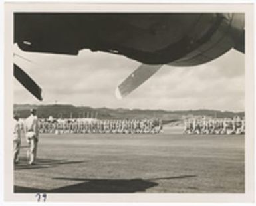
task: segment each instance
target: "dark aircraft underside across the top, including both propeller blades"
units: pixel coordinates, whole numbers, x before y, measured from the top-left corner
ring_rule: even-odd
[[[142,62],[118,86],[122,98],[162,64],[194,66],[231,48],[245,52],[244,26],[243,13],[15,13],[14,43],[28,52],[77,55],[90,49]],[[18,65],[14,75],[42,100],[41,88]]]

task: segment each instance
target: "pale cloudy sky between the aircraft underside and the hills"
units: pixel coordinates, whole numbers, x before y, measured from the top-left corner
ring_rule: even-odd
[[[207,64],[162,66],[132,94],[118,100],[116,86],[139,62],[125,56],[82,50],[78,56],[23,52],[15,46],[16,62],[43,88],[43,102],[14,79],[17,104],[74,104],[94,108],[244,111],[244,55],[231,50]]]

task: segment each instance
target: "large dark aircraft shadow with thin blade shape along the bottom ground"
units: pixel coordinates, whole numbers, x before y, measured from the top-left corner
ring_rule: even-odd
[[[43,191],[36,188],[15,186],[15,193],[135,193],[144,192],[150,187],[156,187],[158,183],[154,180],[183,179],[196,177],[196,175],[182,175],[177,177],[162,177],[153,179],[83,179],[83,178],[53,178],[64,181],[82,181],[82,183],[67,185]]]

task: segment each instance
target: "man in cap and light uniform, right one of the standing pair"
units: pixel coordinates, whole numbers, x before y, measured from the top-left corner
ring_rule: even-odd
[[[35,163],[37,155],[37,142],[39,140],[39,120],[37,119],[37,110],[31,109],[31,115],[25,120],[26,140],[29,143],[27,151],[28,164]]]

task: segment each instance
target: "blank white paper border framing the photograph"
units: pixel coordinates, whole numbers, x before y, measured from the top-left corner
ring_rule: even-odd
[[[252,203],[254,201],[254,23],[253,3],[5,3],[4,136],[12,135],[13,114],[13,13],[14,12],[244,12],[245,13],[245,193],[124,193],[47,194],[49,202],[205,202]],[[4,139],[4,201],[35,202],[35,194],[13,193],[12,140]]]

